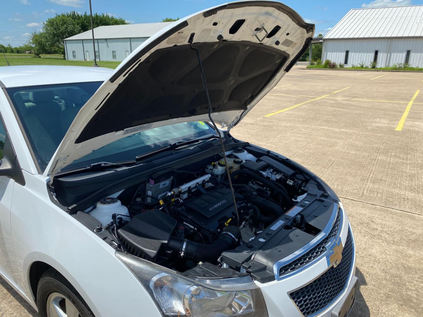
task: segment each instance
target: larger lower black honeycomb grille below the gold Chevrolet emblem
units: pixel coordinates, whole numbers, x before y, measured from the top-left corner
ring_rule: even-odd
[[[352,257],[352,238],[348,231],[342,250],[342,260],[338,266],[331,267],[310,284],[289,294],[304,316],[313,315],[324,309],[342,292],[351,271]]]

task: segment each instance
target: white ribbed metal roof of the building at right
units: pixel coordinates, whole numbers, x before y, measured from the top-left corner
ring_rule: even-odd
[[[423,5],[352,9],[324,39],[392,37],[423,37]]]

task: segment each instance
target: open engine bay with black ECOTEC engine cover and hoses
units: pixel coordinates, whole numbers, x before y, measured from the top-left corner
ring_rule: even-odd
[[[113,236],[115,245],[109,244],[122,252],[188,275],[256,272],[266,281],[284,253],[269,257],[269,252],[283,248],[289,232],[300,230],[311,239],[327,223],[328,208],[320,212],[321,225],[316,215],[310,221],[303,211],[313,205],[316,213],[316,204],[329,195],[304,172],[262,154],[245,148],[226,152],[236,208],[220,153],[155,172],[87,211]],[[260,256],[262,265],[252,268],[249,262]]]

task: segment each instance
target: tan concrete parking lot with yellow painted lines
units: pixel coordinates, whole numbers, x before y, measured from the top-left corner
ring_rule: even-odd
[[[295,66],[235,137],[308,167],[341,197],[360,287],[352,317],[423,316],[423,74]],[[37,316],[0,279],[0,316]]]

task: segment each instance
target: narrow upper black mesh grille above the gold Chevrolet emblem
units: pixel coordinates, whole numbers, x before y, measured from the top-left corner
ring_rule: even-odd
[[[337,235],[340,224],[341,224],[341,208],[338,208],[335,224],[333,225],[332,230],[330,230],[329,235],[327,235],[327,237],[324,238],[321,241],[321,243],[319,243],[317,246],[310,249],[307,253],[303,254],[301,257],[298,257],[294,261],[281,267],[279,270],[279,276],[281,277],[285,274],[298,270],[302,266],[313,261],[314,259],[318,258],[322,253],[324,253],[326,251],[327,243],[329,243],[331,238],[335,238],[335,236]]]

